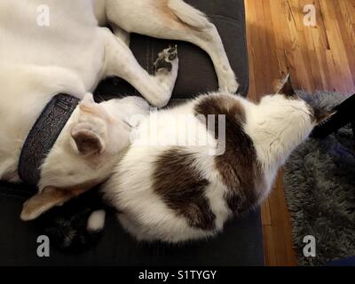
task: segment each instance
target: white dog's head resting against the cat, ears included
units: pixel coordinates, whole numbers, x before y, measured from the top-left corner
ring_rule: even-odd
[[[39,191],[25,202],[21,219],[36,219],[105,181],[130,144],[131,117],[147,112],[137,97],[98,104],[85,95],[46,156]]]

